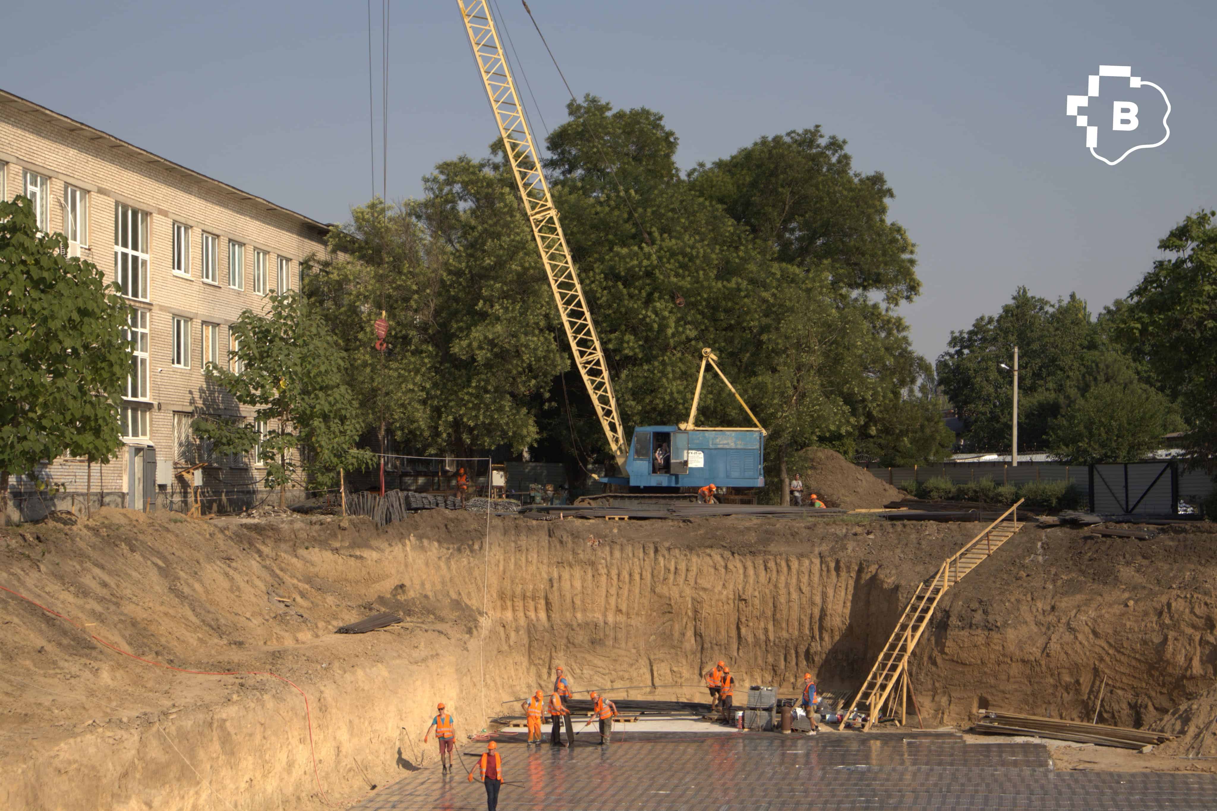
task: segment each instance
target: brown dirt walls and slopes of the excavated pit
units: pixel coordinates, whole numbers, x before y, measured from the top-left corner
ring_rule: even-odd
[[[717,659],[741,685],[792,689],[811,670],[824,688],[853,688],[915,584],[977,530],[503,518],[487,550],[486,518],[469,513],[377,530],[107,511],[0,530],[0,585],[140,655],[292,680],[312,703],[320,783],[340,801],[419,767],[436,700],[464,736],[557,664],[577,691],[699,685]],[[943,599],[913,668],[926,722],[985,704],[1081,717],[1103,674],[1101,717],[1157,720],[1215,677],[1213,541],[1211,525],[1145,542],[1023,530]],[[4,601],[4,807],[320,804],[291,687],[152,668]],[[382,609],[406,621],[332,633]]]

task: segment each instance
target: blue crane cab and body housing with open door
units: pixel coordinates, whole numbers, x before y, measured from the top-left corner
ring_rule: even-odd
[[[764,486],[764,433],[759,428],[643,426],[634,429],[626,477],[605,484],[658,489]]]

